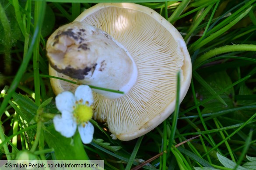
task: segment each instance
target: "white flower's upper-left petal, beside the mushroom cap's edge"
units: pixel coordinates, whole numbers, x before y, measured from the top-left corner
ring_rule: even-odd
[[[68,111],[73,112],[73,106],[75,105],[75,97],[71,92],[62,92],[58,94],[55,98],[56,107],[60,112]]]

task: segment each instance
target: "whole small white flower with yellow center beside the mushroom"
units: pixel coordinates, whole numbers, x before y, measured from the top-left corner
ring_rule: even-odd
[[[74,136],[77,126],[83,143],[91,143],[94,127],[89,122],[93,112],[93,95],[88,85],[77,87],[75,94],[62,92],[55,98],[56,107],[62,113],[53,118],[56,131],[65,137]]]

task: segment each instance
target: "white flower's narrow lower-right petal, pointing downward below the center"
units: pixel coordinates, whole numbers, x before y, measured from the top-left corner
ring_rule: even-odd
[[[91,143],[91,140],[93,139],[94,127],[90,122],[88,122],[84,127],[83,125],[79,125],[78,132],[84,144]]]

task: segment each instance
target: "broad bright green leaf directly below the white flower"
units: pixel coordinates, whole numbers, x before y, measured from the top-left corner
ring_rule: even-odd
[[[73,139],[66,138],[51,125],[45,130],[45,139],[49,147],[54,149],[57,160],[88,160],[79,133]]]

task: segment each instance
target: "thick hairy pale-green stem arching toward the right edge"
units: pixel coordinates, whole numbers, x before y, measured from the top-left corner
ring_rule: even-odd
[[[208,51],[207,53],[201,55],[199,58],[196,59],[194,69],[198,68],[202,63],[209,58],[214,57],[218,54],[223,54],[227,52],[234,52],[234,51],[256,51],[256,45],[253,44],[234,44],[234,45],[226,45],[224,47],[215,48],[213,50]]]

